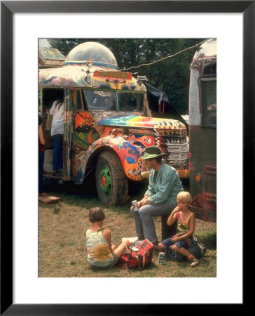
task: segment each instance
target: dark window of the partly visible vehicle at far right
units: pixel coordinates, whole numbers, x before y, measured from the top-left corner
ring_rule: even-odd
[[[201,81],[203,123],[216,125],[216,64],[205,68]]]

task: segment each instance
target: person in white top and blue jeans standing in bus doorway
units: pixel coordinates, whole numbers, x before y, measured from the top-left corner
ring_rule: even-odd
[[[57,171],[62,173],[63,157],[62,143],[64,133],[64,96],[60,96],[50,108],[50,115],[53,115],[50,135],[53,136],[53,176]]]

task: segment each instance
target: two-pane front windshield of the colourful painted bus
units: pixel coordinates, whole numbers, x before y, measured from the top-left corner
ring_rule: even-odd
[[[144,93],[83,90],[92,111],[142,111]]]

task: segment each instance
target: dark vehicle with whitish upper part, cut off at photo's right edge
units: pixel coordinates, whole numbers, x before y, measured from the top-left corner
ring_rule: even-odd
[[[209,222],[216,222],[216,56],[216,39],[196,51],[189,95],[191,208]]]

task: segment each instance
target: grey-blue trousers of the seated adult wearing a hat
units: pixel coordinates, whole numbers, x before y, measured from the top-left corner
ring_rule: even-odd
[[[140,207],[139,211],[130,209],[132,216],[135,218],[135,230],[137,236],[149,239],[150,242],[158,240],[154,225],[153,216],[170,215],[176,204],[164,202],[162,204],[153,205],[146,204]]]

